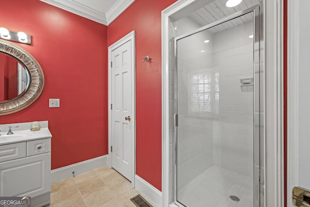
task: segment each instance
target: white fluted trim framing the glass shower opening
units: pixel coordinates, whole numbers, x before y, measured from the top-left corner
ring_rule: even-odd
[[[169,175],[169,17],[194,0],[178,0],[162,11],[162,199],[169,206],[173,176]],[[263,1],[264,20],[264,204],[283,206],[283,10],[282,1]],[[268,19],[268,20],[266,20]],[[173,62],[173,60],[171,60]],[[171,152],[172,153],[172,152]]]

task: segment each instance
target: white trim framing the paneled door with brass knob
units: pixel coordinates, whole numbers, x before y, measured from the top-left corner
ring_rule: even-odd
[[[124,36],[122,39],[118,40],[111,46],[109,46],[109,58],[108,58],[108,116],[109,116],[109,158],[108,158],[108,165],[109,167],[112,166],[112,159],[111,159],[111,127],[112,127],[112,117],[111,117],[111,103],[112,103],[112,96],[111,96],[111,52],[115,49],[123,45],[124,43],[131,41],[131,54],[132,54],[132,179],[131,184],[135,186],[135,175],[136,175],[136,32],[132,31]]]

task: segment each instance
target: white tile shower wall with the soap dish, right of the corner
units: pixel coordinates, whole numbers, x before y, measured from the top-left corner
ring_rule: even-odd
[[[253,77],[252,22],[214,35],[214,66],[219,72],[219,113],[213,121],[214,164],[253,176],[253,86],[240,78]]]

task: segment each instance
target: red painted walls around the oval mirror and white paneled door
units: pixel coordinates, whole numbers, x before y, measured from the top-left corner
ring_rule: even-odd
[[[108,46],[136,31],[137,175],[161,190],[161,11],[176,0],[136,0],[108,27],[38,0],[1,2],[1,26],[32,36],[19,44],[46,83],[28,108],[0,124],[48,120],[52,169],[108,154]],[[15,15],[12,15],[14,11]],[[141,63],[149,55],[151,63]],[[60,98],[60,108],[48,108]]]

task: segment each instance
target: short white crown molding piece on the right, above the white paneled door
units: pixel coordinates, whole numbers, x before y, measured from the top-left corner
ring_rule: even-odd
[[[106,13],[108,25],[120,16],[135,0],[117,0]]]

